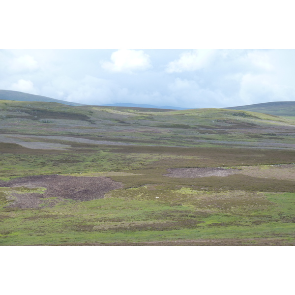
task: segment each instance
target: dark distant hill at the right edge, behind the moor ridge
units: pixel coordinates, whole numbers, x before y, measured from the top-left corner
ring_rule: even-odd
[[[276,116],[295,116],[295,101],[274,101],[223,109],[251,111]]]

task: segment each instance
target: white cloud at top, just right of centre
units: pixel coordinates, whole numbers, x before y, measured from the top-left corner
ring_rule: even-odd
[[[215,50],[194,50],[184,52],[179,59],[171,61],[166,66],[167,73],[196,71],[210,65],[215,57]]]

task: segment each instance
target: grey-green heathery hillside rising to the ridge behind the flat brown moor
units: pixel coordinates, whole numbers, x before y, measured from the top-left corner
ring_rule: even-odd
[[[0,132],[80,136],[136,145],[260,146],[293,143],[295,121],[225,109],[161,110],[0,101]],[[7,140],[7,139],[6,139]],[[281,147],[281,146],[280,146]]]

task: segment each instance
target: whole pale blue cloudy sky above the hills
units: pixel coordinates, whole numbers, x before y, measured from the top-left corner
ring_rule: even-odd
[[[222,108],[295,100],[295,50],[0,51],[0,89],[103,105]]]

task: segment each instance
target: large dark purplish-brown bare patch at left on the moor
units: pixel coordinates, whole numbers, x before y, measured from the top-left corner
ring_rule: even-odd
[[[122,188],[123,184],[108,177],[73,177],[44,175],[15,178],[0,181],[0,187],[45,187],[43,194],[13,194],[15,201],[7,207],[36,208],[54,205],[55,198],[89,201],[102,199],[110,190]],[[52,198],[52,199],[49,199]]]

